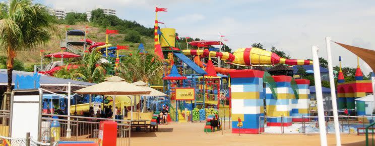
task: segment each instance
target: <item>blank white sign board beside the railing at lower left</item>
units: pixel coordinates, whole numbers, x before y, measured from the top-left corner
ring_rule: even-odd
[[[41,102],[40,89],[15,89],[11,95],[11,137],[25,138],[26,133],[40,138]]]

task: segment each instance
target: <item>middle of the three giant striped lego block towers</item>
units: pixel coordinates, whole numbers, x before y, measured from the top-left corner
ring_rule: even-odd
[[[272,76],[276,82],[276,95],[271,92],[269,86],[266,86],[266,111],[267,126],[291,126],[292,119],[280,116],[290,116],[292,109],[292,100],[295,99],[294,92],[291,87],[292,77],[290,76]]]

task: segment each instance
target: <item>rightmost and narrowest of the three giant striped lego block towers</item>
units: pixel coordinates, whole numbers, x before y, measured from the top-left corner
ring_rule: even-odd
[[[310,80],[306,79],[296,79],[295,82],[298,86],[298,99],[292,99],[292,113],[291,116],[309,116],[310,109],[310,99],[308,94],[310,94],[309,85]],[[293,118],[292,121],[301,122],[309,121],[309,118]]]

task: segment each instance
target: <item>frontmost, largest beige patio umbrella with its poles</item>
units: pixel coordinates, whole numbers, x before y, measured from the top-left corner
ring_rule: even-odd
[[[114,104],[116,95],[148,95],[150,94],[151,90],[128,83],[118,76],[113,76],[105,79],[104,82],[82,88],[74,92],[80,94],[113,95]],[[113,105],[112,111],[114,111],[114,108],[115,107]],[[133,112],[133,108],[131,108],[131,110]],[[114,118],[115,117],[113,116],[113,119]]]

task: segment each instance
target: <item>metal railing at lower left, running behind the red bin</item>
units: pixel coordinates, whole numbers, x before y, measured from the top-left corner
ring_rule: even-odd
[[[54,136],[54,140],[99,142],[100,121],[116,121],[116,145],[130,145],[130,120],[56,114],[42,114],[40,132],[41,141],[48,142],[50,140],[51,133],[55,132],[57,136]]]

